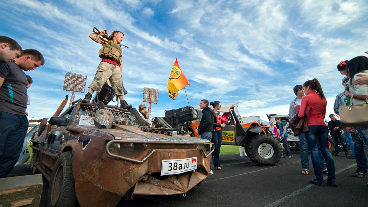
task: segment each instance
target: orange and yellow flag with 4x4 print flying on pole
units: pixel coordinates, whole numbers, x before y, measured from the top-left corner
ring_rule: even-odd
[[[169,97],[175,100],[176,96],[178,95],[178,91],[185,88],[186,85],[190,86],[189,81],[181,71],[178,64],[178,59],[176,59],[173,68],[171,69],[169,81],[167,81],[167,91],[169,92]]]

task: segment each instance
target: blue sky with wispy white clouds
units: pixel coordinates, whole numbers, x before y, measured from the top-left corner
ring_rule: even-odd
[[[26,73],[33,78],[29,119],[51,117],[71,94],[62,90],[70,68],[87,75],[87,91],[100,62],[100,44],[88,38],[94,26],[124,32],[125,99],[138,108],[144,87],[159,89],[152,117],[188,105],[184,90],[176,101],[167,94],[176,58],[190,105],[239,103],[241,116],[268,120],[266,113],[289,112],[295,85],[317,78],[328,116],[343,90],[337,64],[368,51],[366,0],[18,0],[0,7],[0,34],[45,57]]]

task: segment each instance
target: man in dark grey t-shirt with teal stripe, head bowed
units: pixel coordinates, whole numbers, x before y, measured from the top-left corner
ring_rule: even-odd
[[[25,113],[28,85],[25,73],[45,63],[35,49],[23,50],[17,62],[0,64],[0,178],[13,169],[28,129]]]

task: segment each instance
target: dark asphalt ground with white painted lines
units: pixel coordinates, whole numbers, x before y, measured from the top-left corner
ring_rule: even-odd
[[[339,187],[326,184],[325,187],[309,183],[314,171],[309,154],[311,169],[309,175],[302,175],[299,152],[292,152],[293,158],[282,158],[276,166],[255,166],[248,157],[239,154],[220,155],[222,170],[200,186],[191,189],[186,197],[134,196],[133,200],[121,201],[118,206],[134,207],[345,207],[367,206],[368,178],[355,178],[355,159],[333,157],[336,168],[336,182]],[[368,157],[368,151],[366,150]],[[29,164],[16,166],[9,176],[29,175]],[[324,176],[325,181],[327,175]],[[46,206],[49,183],[44,178],[40,207]]]

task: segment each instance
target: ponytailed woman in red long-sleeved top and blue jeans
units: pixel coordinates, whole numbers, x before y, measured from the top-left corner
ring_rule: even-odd
[[[326,186],[323,181],[322,172],[316,169],[321,169],[321,162],[319,161],[319,150],[317,143],[321,147],[321,152],[326,161],[328,170],[327,183],[331,186],[337,187],[335,178],[335,162],[333,162],[332,155],[328,149],[328,126],[325,123],[326,105],[327,101],[323,94],[321,84],[314,78],[306,81],[303,84],[304,93],[307,94],[301,99],[299,117],[304,117],[307,106],[311,107],[309,113],[306,114],[309,131],[305,132],[309,150],[311,151],[312,164],[314,168],[314,180],[309,180],[319,186]],[[308,107],[308,108],[309,108]]]

